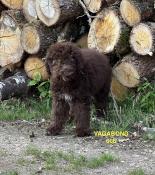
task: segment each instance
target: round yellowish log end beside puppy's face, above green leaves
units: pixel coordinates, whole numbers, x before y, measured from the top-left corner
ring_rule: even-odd
[[[42,80],[49,78],[45,63],[39,57],[29,57],[24,64],[24,69],[31,79],[34,79],[37,73],[41,75]]]

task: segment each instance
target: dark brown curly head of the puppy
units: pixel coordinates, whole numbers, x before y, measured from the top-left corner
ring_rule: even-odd
[[[57,43],[52,45],[46,55],[46,67],[52,80],[65,82],[75,79],[78,68],[80,49],[72,43]]]

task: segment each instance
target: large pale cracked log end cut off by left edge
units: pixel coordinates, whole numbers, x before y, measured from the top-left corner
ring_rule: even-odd
[[[0,19],[0,66],[14,64],[21,60],[23,48],[21,30],[10,15],[2,14]]]

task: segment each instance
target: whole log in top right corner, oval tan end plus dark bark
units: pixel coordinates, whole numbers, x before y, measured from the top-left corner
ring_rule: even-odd
[[[122,0],[120,12],[129,26],[139,24],[153,15],[154,0]]]

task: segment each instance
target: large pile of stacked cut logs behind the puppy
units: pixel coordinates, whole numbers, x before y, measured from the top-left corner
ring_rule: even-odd
[[[154,7],[154,0],[1,0],[0,74],[18,65],[29,78],[40,72],[46,80],[47,48],[72,41],[109,55],[111,90],[123,100],[155,79]]]

